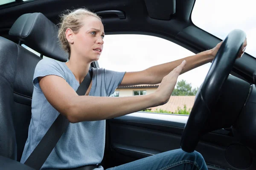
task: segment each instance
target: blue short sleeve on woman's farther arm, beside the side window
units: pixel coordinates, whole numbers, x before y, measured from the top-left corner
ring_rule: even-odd
[[[108,96],[114,93],[116,88],[122,82],[126,72],[111,71],[104,69],[105,72],[105,87]]]

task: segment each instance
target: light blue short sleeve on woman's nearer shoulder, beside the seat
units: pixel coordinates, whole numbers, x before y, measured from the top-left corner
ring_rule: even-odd
[[[53,59],[41,59],[35,67],[34,77],[33,77],[33,85],[36,89],[41,91],[38,77],[45,77],[48,75],[55,75],[62,77],[65,79],[65,74],[63,69],[61,68],[60,63]]]

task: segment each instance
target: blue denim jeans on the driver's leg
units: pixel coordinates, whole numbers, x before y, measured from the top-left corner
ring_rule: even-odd
[[[208,170],[203,156],[194,151],[170,150],[107,170]]]

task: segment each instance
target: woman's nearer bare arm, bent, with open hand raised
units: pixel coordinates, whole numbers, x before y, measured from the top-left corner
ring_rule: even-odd
[[[48,75],[38,77],[39,85],[48,102],[72,122],[111,119],[145,108],[163,105],[176,85],[177,77],[186,62],[163,78],[157,90],[148,95],[131,97],[79,96],[61,77]]]

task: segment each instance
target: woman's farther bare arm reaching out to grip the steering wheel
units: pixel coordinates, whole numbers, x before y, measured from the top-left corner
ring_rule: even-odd
[[[147,68],[143,71],[127,72],[119,86],[130,86],[130,85],[155,85],[162,81],[163,77],[169,74],[174,68],[176,68],[183,60],[186,60],[186,66],[181,72],[181,74],[204,65],[208,62],[212,62],[215,55],[220,48],[222,41],[218,43],[214,48],[203,51],[201,53],[195,54],[193,56],[185,57],[183,59],[178,59],[172,62],[167,62],[160,65],[155,65]],[[247,46],[247,39],[245,39],[244,44],[237,56],[240,58],[245,51]]]

